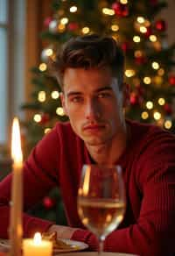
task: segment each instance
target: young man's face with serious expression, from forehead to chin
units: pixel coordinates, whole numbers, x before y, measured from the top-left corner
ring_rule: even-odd
[[[123,132],[123,92],[109,68],[67,68],[62,105],[73,131],[88,146],[108,144]]]

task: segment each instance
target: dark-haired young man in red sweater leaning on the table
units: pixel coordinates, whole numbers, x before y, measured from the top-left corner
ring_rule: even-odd
[[[151,124],[125,120],[129,91],[123,82],[123,53],[114,39],[88,35],[71,39],[54,65],[70,124],[56,124],[25,162],[25,210],[59,186],[70,227],[24,214],[25,237],[57,231],[96,250],[76,209],[85,163],[123,167],[127,209],[123,223],[104,243],[109,252],[172,255],[175,238],[175,137]],[[7,237],[11,175],[0,184],[0,237]]]

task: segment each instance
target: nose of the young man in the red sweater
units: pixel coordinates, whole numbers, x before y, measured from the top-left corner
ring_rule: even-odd
[[[91,99],[86,104],[86,119],[90,121],[97,121],[101,117],[101,106],[95,99]]]

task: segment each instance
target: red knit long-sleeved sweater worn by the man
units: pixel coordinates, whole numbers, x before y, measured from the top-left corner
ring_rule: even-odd
[[[123,167],[127,210],[123,223],[106,238],[104,249],[145,256],[175,252],[175,137],[151,124],[130,124],[129,144],[117,161]],[[68,223],[80,227],[73,239],[97,248],[77,214],[81,167],[90,163],[88,150],[70,124],[57,124],[36,146],[24,167],[24,207],[28,210],[59,186]],[[11,175],[0,183],[0,238],[7,238]],[[45,231],[52,223],[24,214],[24,234]]]

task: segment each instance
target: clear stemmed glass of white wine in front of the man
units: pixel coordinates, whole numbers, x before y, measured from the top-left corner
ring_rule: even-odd
[[[103,241],[122,222],[125,212],[125,189],[122,167],[84,165],[78,190],[78,213],[89,231]]]

